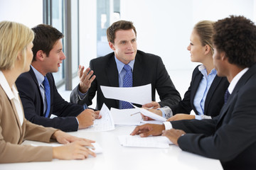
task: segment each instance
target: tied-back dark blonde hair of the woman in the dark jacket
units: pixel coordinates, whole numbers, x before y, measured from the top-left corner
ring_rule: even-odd
[[[194,26],[194,30],[196,30],[196,33],[198,33],[200,37],[201,44],[209,45],[210,51],[213,54],[213,26],[215,21],[199,21],[196,23],[196,26]]]

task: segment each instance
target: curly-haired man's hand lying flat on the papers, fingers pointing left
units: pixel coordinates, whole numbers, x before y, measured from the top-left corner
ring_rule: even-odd
[[[141,137],[157,136],[161,135],[163,130],[165,130],[164,125],[145,124],[137,126],[130,135],[140,135]]]

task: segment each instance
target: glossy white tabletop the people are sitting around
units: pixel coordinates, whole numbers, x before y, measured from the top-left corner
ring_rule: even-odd
[[[114,130],[107,132],[86,132],[85,130],[69,132],[70,135],[95,140],[103,150],[102,154],[97,154],[95,158],[0,164],[0,169],[223,169],[219,160],[183,152],[176,145],[170,145],[168,149],[122,147],[118,136],[129,135],[132,130],[134,126],[117,126]],[[23,145],[40,143],[25,141]]]

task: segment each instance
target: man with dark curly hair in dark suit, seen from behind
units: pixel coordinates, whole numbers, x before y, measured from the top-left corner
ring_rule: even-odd
[[[230,16],[215,23],[214,30],[215,69],[230,82],[220,115],[146,124],[131,135],[161,135],[165,130],[163,135],[181,149],[220,159],[224,169],[256,169],[256,26],[242,16]]]

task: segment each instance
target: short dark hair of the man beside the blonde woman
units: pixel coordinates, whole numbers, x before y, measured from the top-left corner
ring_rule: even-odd
[[[46,24],[39,24],[38,26],[32,28],[35,33],[35,38],[33,40],[33,61],[36,61],[36,52],[38,50],[43,50],[46,56],[49,55],[50,50],[53,49],[55,42],[63,38],[63,33],[59,30],[53,28],[53,26],[48,26]]]

